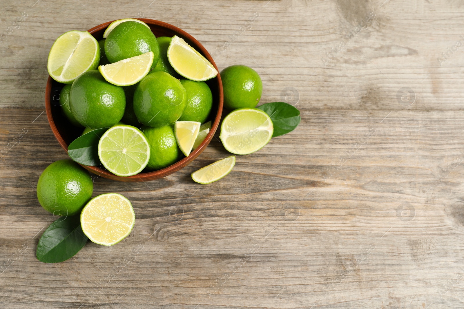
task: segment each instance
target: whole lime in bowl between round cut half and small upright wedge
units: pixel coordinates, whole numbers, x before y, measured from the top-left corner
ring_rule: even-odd
[[[177,162],[180,149],[177,146],[172,125],[157,128],[142,126],[142,132],[150,145],[148,169],[161,170]]]

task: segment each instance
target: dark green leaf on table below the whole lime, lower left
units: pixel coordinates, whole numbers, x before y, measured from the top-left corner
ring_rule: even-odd
[[[71,259],[89,238],[81,228],[80,214],[61,217],[45,230],[37,244],[37,259],[58,263]]]

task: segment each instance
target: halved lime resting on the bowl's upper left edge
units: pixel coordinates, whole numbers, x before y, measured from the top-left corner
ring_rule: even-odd
[[[57,82],[71,84],[82,73],[97,69],[100,46],[87,31],[68,31],[59,36],[48,54],[48,74]]]

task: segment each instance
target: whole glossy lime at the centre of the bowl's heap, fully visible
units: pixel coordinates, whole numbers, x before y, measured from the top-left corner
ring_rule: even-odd
[[[177,121],[187,104],[180,81],[166,72],[149,73],[134,92],[134,112],[145,126],[166,126]]]

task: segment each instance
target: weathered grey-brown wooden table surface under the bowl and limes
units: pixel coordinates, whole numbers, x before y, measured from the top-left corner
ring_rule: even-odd
[[[0,5],[0,148],[27,132],[0,164],[1,308],[463,308],[461,1],[35,1]],[[161,180],[96,178],[94,195],[133,203],[133,233],[41,263],[56,217],[36,184],[67,158],[44,113],[50,47],[142,16],[192,34],[219,69],[256,69],[261,103],[302,122],[210,185],[190,173],[228,155],[218,139]]]

